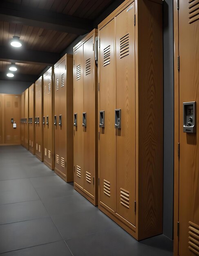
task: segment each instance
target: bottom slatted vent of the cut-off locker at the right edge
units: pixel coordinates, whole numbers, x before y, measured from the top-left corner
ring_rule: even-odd
[[[189,249],[199,255],[199,226],[189,221]]]

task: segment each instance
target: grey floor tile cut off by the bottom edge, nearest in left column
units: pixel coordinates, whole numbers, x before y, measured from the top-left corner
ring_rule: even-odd
[[[58,241],[3,253],[1,256],[72,256],[72,254],[64,241]]]

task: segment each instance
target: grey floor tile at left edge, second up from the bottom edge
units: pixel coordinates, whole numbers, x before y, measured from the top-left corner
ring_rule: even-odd
[[[0,225],[0,253],[62,240],[51,218]]]

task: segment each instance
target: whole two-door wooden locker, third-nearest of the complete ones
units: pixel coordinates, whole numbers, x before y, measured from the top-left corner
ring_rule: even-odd
[[[54,65],[55,173],[73,182],[73,58],[65,54]]]

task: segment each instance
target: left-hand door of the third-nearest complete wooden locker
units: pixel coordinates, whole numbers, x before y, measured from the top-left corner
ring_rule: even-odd
[[[54,134],[55,134],[55,168],[60,169],[60,127],[59,127],[59,110],[60,110],[60,65],[54,68]]]

